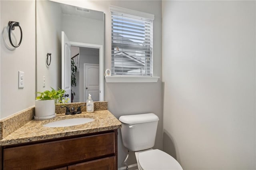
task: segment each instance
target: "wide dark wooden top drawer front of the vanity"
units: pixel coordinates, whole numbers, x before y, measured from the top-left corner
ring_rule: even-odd
[[[3,150],[3,168],[47,169],[115,153],[115,133],[97,134]]]

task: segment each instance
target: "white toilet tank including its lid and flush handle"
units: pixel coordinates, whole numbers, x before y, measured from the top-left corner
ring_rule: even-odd
[[[158,117],[154,113],[121,116],[123,144],[128,150],[152,148],[155,144]]]

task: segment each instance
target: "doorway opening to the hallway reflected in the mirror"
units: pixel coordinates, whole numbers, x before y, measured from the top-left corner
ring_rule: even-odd
[[[87,87],[86,83],[91,85],[98,83],[97,87],[94,88],[94,93],[92,95],[93,101],[99,101],[100,90],[99,90],[99,70],[98,72],[94,70],[93,73],[89,75],[85,71],[85,65],[98,65],[100,62],[100,49],[95,47],[82,47],[71,45],[71,67],[76,67],[76,71],[72,69],[72,93],[71,102],[86,102],[88,97],[88,90],[92,87]],[[91,81],[90,81],[91,79]],[[98,88],[98,89],[95,89]]]

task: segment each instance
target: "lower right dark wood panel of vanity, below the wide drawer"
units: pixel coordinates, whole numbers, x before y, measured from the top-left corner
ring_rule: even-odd
[[[68,166],[68,170],[115,170],[116,156]]]

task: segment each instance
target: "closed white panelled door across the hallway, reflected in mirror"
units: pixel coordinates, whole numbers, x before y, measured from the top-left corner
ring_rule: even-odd
[[[92,95],[93,101],[100,100],[99,65],[87,65],[84,67],[85,101],[88,95]]]

